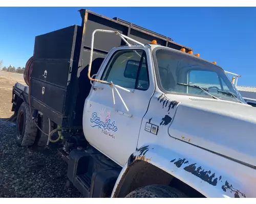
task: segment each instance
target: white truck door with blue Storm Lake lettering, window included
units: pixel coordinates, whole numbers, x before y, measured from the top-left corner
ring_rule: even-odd
[[[146,54],[147,53],[147,54]],[[144,48],[119,47],[104,61],[96,79],[113,82],[130,92],[118,89],[127,109],[108,84],[94,82],[86,99],[83,130],[87,140],[119,165],[125,165],[136,150],[141,121],[154,93],[150,52]]]

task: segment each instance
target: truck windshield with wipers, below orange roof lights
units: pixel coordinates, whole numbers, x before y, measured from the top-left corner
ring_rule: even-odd
[[[166,92],[193,94],[245,103],[220,67],[168,49],[156,48],[155,63],[160,88]]]

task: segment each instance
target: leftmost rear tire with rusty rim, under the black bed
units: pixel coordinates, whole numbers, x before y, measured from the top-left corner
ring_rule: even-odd
[[[37,118],[35,119],[37,122]],[[19,146],[32,146],[35,142],[37,127],[30,115],[29,105],[25,102],[19,107],[16,119],[16,143]]]

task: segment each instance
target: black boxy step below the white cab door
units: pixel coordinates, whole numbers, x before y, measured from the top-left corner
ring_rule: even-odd
[[[110,197],[121,167],[94,148],[69,154],[68,178],[83,197]]]

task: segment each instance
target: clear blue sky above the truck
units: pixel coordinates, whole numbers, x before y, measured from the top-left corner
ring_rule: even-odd
[[[81,8],[168,36],[224,70],[241,74],[238,85],[256,86],[256,8],[246,7],[0,7],[3,65],[25,66],[35,36],[81,25]]]

